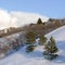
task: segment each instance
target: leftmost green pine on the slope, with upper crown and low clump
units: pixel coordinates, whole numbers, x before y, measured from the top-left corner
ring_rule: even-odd
[[[26,34],[26,41],[27,41],[26,52],[32,52],[36,42],[36,35],[34,31],[29,31]]]

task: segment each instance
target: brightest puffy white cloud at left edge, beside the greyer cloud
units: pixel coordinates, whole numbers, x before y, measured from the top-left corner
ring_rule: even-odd
[[[8,11],[0,9],[0,28],[8,27],[11,17]]]

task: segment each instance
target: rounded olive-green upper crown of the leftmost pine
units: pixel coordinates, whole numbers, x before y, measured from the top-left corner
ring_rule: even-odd
[[[36,42],[36,35],[34,31],[29,31],[26,34],[26,41],[27,44],[32,44]]]

